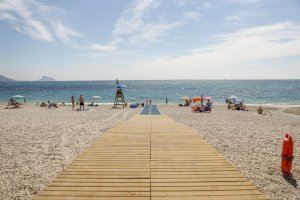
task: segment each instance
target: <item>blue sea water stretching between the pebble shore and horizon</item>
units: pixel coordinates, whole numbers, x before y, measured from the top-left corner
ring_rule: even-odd
[[[212,96],[224,103],[230,95],[241,97],[246,103],[300,104],[300,80],[153,80],[121,81],[127,85],[125,97],[129,102],[143,102],[151,98],[154,103],[179,103],[181,96]],[[115,81],[56,81],[0,83],[0,101],[19,94],[29,102],[69,102],[80,94],[86,101],[94,95],[101,102],[114,99]]]

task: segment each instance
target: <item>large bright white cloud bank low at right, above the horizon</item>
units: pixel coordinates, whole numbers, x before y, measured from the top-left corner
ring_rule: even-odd
[[[252,62],[300,56],[300,26],[289,21],[217,35],[215,39],[215,44],[189,55],[142,59],[136,64],[137,73],[159,71],[182,78],[181,74],[190,72],[198,78],[227,78],[224,76],[228,72],[245,70],[243,66],[251,66]]]

